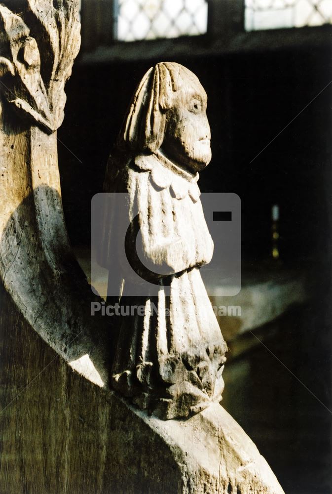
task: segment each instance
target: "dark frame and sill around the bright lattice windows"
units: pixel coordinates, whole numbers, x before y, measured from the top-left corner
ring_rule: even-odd
[[[114,40],[113,0],[81,0],[82,46],[78,63],[154,60],[166,56],[219,56],[280,49],[331,47],[332,25],[245,31],[245,0],[208,0],[207,33],[141,41]]]

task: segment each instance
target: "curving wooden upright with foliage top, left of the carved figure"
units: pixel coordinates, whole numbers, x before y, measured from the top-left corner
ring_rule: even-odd
[[[110,332],[89,317],[92,294],[70,247],[57,160],[64,85],[79,49],[78,2],[4,3],[15,8],[0,5],[0,278],[17,310],[73,367],[84,371],[79,359],[90,355],[87,376],[103,385]]]

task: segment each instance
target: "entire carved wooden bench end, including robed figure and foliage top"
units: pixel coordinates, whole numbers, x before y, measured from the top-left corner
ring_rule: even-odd
[[[112,358],[61,204],[56,129],[78,47],[79,0],[1,1],[0,492],[283,494],[219,403],[166,421],[110,389],[162,418],[220,399],[225,344],[199,275],[213,250],[197,186],[210,134],[195,76],[177,64],[149,71],[106,190],[129,192],[128,255],[157,291],[131,299],[146,314],[119,317]]]

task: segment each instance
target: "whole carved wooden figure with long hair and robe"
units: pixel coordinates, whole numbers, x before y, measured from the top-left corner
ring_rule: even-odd
[[[144,262],[137,262],[133,228],[130,264],[159,286],[155,296],[120,301],[144,305],[145,314],[120,319],[111,385],[164,419],[221,401],[224,386],[226,344],[199,271],[214,247],[197,185],[211,160],[206,107],[207,95],[188,69],[170,62],[151,68],[133,97],[105,181],[108,192],[128,192],[128,224],[138,212]],[[116,235],[107,221],[105,232]]]

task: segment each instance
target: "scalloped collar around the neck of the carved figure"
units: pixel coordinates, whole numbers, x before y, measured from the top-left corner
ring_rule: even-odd
[[[150,181],[157,190],[169,188],[171,196],[178,200],[189,195],[193,203],[198,201],[201,194],[197,185],[198,172],[193,175],[174,165],[160,151],[136,156],[135,165],[141,170],[150,172]]]

